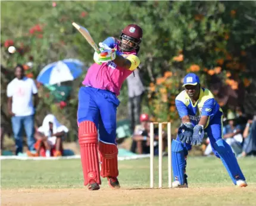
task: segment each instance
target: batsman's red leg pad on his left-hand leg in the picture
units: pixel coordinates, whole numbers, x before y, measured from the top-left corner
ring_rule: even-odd
[[[79,124],[79,145],[83,167],[84,185],[91,181],[101,184],[99,176],[98,132],[95,123],[83,121]]]

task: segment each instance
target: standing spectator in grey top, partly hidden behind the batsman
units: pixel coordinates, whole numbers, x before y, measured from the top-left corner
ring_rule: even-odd
[[[134,131],[135,125],[139,125],[139,116],[141,115],[141,102],[145,87],[142,84],[139,70],[135,69],[133,74],[127,77],[128,85],[128,112],[131,122],[131,130]]]

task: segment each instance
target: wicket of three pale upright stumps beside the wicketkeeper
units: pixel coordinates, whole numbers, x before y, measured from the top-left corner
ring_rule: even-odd
[[[154,188],[154,125],[158,125],[158,188],[163,187],[163,124],[167,125],[167,146],[168,146],[168,188],[171,188],[172,167],[171,167],[171,123],[151,122],[150,123],[150,187]]]

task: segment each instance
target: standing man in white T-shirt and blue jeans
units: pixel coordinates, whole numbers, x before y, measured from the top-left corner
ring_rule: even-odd
[[[34,150],[34,115],[38,104],[38,88],[31,78],[25,77],[22,65],[15,67],[15,77],[7,85],[7,97],[8,112],[12,116],[11,122],[17,155],[23,151],[23,126],[26,131],[29,150]]]

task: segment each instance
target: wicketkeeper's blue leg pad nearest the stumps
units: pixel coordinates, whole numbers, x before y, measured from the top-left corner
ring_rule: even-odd
[[[184,145],[182,142],[173,140],[171,143],[171,163],[173,166],[173,176],[180,185],[185,184],[186,160],[184,154]]]

